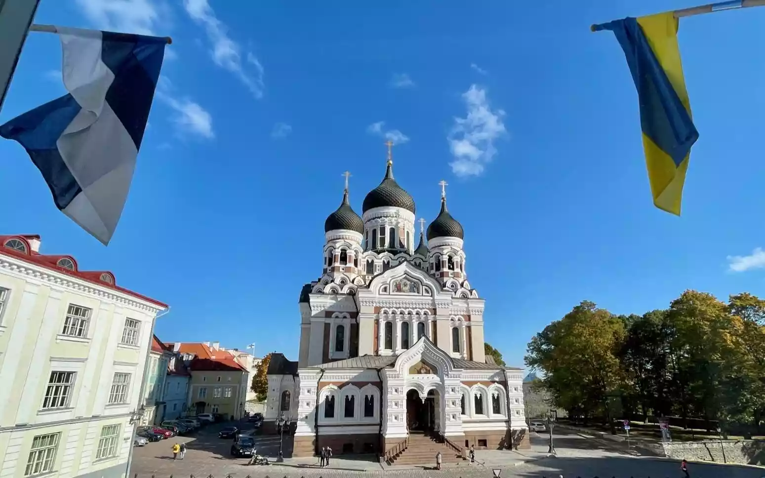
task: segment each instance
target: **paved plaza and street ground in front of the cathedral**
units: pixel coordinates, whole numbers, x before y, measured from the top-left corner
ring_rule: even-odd
[[[478,463],[465,463],[443,470],[430,467],[383,467],[376,457],[354,455],[353,460],[333,458],[328,468],[319,468],[316,458],[291,458],[291,450],[285,447],[285,463],[273,463],[267,467],[246,465],[246,458],[233,458],[229,454],[231,440],[217,437],[221,425],[210,425],[190,437],[175,437],[135,448],[131,476],[138,478],[493,478],[493,470],[499,469],[500,478],[682,478],[679,463],[658,457],[640,456],[635,450],[627,450],[622,443],[608,443],[578,434],[555,434],[557,457],[547,457],[549,438],[532,433],[532,450],[520,452],[509,450],[478,450]],[[246,426],[244,427],[246,428]],[[184,460],[173,460],[171,447],[184,442],[188,451]],[[288,444],[285,440],[285,444]],[[257,437],[258,453],[275,460],[279,449],[278,436]],[[715,463],[690,463],[692,478],[763,478],[765,468],[735,467]]]

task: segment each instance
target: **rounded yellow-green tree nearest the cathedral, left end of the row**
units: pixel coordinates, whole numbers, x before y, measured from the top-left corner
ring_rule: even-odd
[[[623,320],[583,301],[532,338],[526,366],[545,372],[555,407],[584,418],[607,413],[607,395],[622,384],[624,335]]]

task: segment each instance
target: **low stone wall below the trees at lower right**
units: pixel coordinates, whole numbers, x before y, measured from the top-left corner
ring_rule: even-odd
[[[765,440],[705,440],[662,443],[664,454],[677,460],[765,464]]]

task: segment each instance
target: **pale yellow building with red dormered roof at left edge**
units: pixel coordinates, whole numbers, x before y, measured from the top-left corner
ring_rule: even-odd
[[[40,242],[0,236],[0,476],[125,476],[168,306]]]

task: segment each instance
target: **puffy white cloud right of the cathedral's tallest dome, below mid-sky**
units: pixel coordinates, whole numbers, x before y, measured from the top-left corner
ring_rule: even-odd
[[[478,176],[496,154],[494,140],[506,132],[502,122],[505,112],[492,111],[486,90],[476,85],[470,85],[462,99],[467,105],[467,117],[455,118],[447,137],[454,155],[449,165],[457,176]]]

